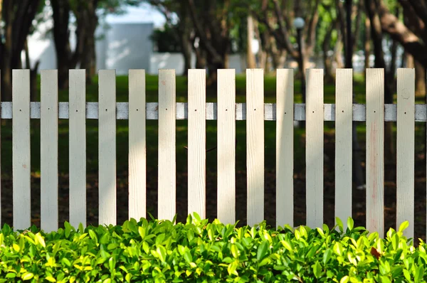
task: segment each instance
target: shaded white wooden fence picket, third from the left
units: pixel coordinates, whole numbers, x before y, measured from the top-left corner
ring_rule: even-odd
[[[86,226],[86,72],[69,71],[69,183],[70,224]],[[61,107],[60,107],[61,109]]]

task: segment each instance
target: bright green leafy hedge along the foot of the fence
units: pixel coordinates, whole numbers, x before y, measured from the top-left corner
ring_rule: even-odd
[[[268,229],[142,218],[57,232],[0,230],[0,282],[423,282],[424,242],[399,231]]]

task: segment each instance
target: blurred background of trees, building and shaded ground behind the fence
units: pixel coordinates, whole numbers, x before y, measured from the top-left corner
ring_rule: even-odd
[[[0,0],[1,100],[11,101],[11,70],[31,69],[40,100],[43,69],[58,69],[68,101],[68,70],[86,70],[86,100],[97,101],[97,70],[117,72],[117,102],[128,101],[129,69],[147,71],[147,102],[157,102],[159,68],[176,70],[176,100],[187,101],[189,68],[206,69],[207,102],[216,73],[236,69],[236,102],[246,102],[246,68],[263,68],[264,100],[275,102],[275,70],[295,69],[295,103],[305,102],[306,68],[322,68],[325,103],[334,103],[337,68],[353,69],[354,103],[365,103],[366,68],[384,68],[384,101],[396,103],[397,68],[415,68],[416,103],[426,103],[427,0]],[[33,223],[40,213],[40,120],[31,121]],[[68,120],[59,123],[60,221],[68,218]],[[157,214],[157,120],[147,120],[147,210]],[[295,127],[295,225],[305,223],[305,129]],[[97,222],[97,120],[87,121],[88,223]],[[364,122],[353,127],[353,217],[364,225]],[[118,223],[127,219],[128,124],[117,120]],[[416,236],[426,231],[426,124],[416,123]],[[246,122],[236,122],[236,207],[246,221]],[[187,122],[176,121],[178,220],[187,202]],[[396,221],[396,122],[385,123],[386,226]],[[216,121],[206,121],[206,147]],[[334,122],[325,122],[325,223],[334,223]],[[206,154],[207,216],[216,215],[216,151]],[[1,220],[11,215],[11,122],[1,122]],[[280,200],[278,200],[280,201]],[[265,219],[275,221],[275,122],[265,122]]]

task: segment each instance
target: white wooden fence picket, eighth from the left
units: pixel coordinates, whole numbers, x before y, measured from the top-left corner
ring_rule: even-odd
[[[236,71],[218,70],[217,215],[236,223]]]

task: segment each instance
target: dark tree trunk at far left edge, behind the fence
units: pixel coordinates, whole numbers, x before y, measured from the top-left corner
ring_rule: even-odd
[[[12,70],[21,68],[21,52],[41,10],[39,0],[0,0],[1,98],[11,100]]]

